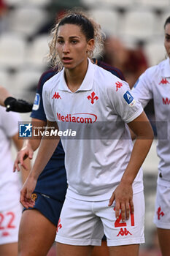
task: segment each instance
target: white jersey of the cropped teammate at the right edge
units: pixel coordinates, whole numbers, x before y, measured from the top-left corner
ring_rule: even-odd
[[[158,184],[170,186],[170,63],[169,59],[147,69],[137,80],[134,96],[143,107],[150,99],[154,101],[155,121],[158,133],[157,153]]]

